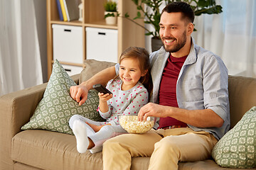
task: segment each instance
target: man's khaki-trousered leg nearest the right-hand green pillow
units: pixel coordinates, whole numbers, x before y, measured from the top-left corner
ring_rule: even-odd
[[[183,132],[177,129],[174,135],[168,135],[156,143],[149,169],[175,170],[178,169],[179,161],[195,162],[210,157],[217,140],[207,132],[191,132],[190,128],[183,129]],[[166,134],[170,132],[171,130],[166,130]]]

